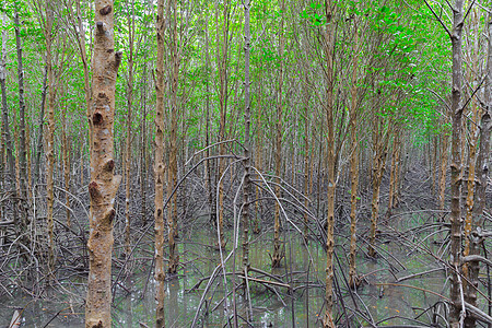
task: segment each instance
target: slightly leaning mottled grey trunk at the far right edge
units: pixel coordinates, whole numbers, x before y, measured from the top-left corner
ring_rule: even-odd
[[[492,15],[489,16],[489,22]],[[490,131],[492,129],[491,110],[492,110],[492,23],[487,26],[488,30],[488,61],[487,61],[487,80],[485,80],[485,94],[484,94],[484,112],[482,113],[480,124],[480,147],[477,156],[477,187],[476,187],[476,201],[473,208],[473,232],[471,233],[470,241],[470,255],[480,254],[480,245],[483,239],[480,236],[479,229],[483,227],[483,209],[485,208],[485,189],[487,179],[489,176],[489,162],[490,162]],[[468,303],[477,306],[477,290],[479,284],[480,266],[478,261],[471,261],[468,267],[470,281],[469,290],[467,291],[466,298]],[[466,318],[465,324],[467,327],[475,327],[476,323],[473,318]]]

